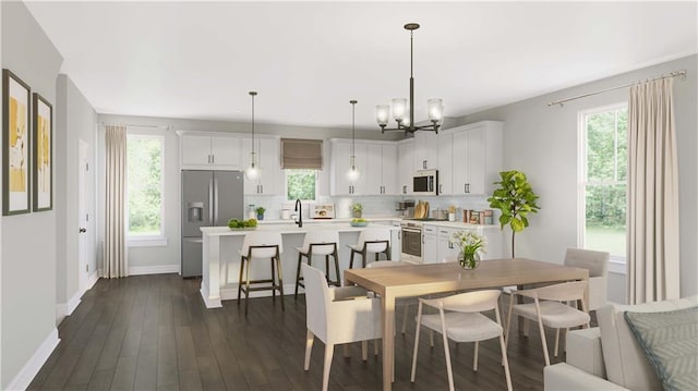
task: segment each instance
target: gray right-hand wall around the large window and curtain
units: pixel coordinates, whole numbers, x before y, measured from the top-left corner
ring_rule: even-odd
[[[578,112],[627,101],[628,89],[569,101],[562,108],[547,107],[547,102],[685,69],[688,71],[686,80],[675,80],[674,83],[681,204],[681,294],[698,293],[697,59],[698,56],[690,56],[458,120],[459,124],[504,121],[504,167],[526,172],[541,197],[540,212],[530,218],[529,229],[517,235],[517,256],[561,262],[565,248],[577,246]],[[611,276],[610,283],[609,298],[625,303],[625,276]]]

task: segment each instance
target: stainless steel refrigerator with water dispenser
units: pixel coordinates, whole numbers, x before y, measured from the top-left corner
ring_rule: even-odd
[[[182,170],[182,277],[202,273],[202,227],[222,227],[244,213],[240,171]]]

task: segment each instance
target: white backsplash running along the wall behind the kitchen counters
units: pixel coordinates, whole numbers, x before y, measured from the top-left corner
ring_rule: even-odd
[[[360,196],[360,197],[330,197],[324,196],[318,197],[316,203],[326,204],[332,203],[335,204],[335,215],[336,218],[350,218],[351,216],[351,205],[354,203],[359,203],[363,206],[362,216],[365,218],[377,218],[377,217],[398,217],[400,216],[400,211],[396,210],[396,206],[398,201],[413,199],[416,203],[419,200],[429,201],[431,216],[435,216],[436,209],[448,209],[449,206],[456,206],[456,221],[462,221],[462,210],[484,210],[491,209],[490,205],[486,200],[486,196],[468,196],[468,197],[450,197],[450,196],[438,196],[438,197],[402,197],[402,196]],[[264,207],[266,208],[266,212],[264,213],[264,218],[267,220],[279,220],[281,219],[281,210],[288,209],[291,215],[293,212],[294,203],[287,201],[282,196],[245,196],[245,210],[248,210],[249,205],[254,205],[255,207]],[[303,203],[303,219],[309,219],[309,210],[306,203]],[[498,215],[497,210],[494,211],[494,220],[497,221]]]

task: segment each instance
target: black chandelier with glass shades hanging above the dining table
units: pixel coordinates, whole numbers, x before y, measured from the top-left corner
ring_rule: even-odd
[[[417,131],[434,131],[438,133],[438,126],[444,118],[444,106],[441,98],[432,98],[426,101],[426,112],[431,124],[423,126],[414,125],[414,77],[412,76],[412,34],[419,28],[417,23],[408,23],[405,25],[405,29],[410,32],[410,100],[409,109],[407,106],[407,99],[394,98],[388,105],[378,105],[375,107],[376,121],[381,126],[381,133],[385,131],[404,131],[405,133],[414,133]],[[397,127],[386,129],[389,120],[389,114],[393,114],[393,119],[397,122]],[[409,118],[408,118],[409,117]]]

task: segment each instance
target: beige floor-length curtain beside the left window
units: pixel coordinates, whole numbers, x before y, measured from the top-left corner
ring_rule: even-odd
[[[127,129],[107,125],[106,133],[106,228],[104,277],[129,276],[125,256]]]

